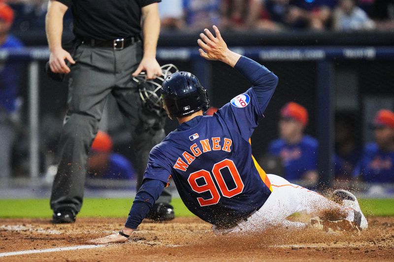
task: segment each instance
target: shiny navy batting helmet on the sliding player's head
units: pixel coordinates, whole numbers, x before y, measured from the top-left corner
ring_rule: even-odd
[[[164,109],[169,117],[188,116],[198,110],[207,111],[209,99],[206,89],[189,72],[168,76],[161,89]]]

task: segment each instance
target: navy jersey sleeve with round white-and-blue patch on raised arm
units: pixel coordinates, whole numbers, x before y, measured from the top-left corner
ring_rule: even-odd
[[[243,139],[249,140],[263,117],[256,94],[252,88],[231,99],[217,112],[228,126],[234,127]]]

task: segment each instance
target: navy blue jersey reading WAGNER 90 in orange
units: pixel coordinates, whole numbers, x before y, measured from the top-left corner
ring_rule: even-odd
[[[238,221],[270,195],[249,143],[262,116],[250,88],[213,116],[193,118],[191,128],[178,128],[152,149],[144,179],[167,182],[171,175],[182,201],[199,218],[218,226]]]

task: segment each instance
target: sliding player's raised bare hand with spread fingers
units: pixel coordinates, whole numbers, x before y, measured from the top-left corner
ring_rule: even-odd
[[[213,30],[216,36],[208,29],[204,29],[204,32],[199,34],[200,39],[197,43],[201,47],[198,49],[200,56],[207,60],[220,60],[234,67],[241,56],[229,50],[216,26],[213,26]]]

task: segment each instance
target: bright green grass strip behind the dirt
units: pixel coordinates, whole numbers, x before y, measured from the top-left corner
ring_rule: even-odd
[[[131,199],[85,199],[78,217],[127,217]],[[180,199],[173,199],[175,216],[194,216]],[[366,216],[394,216],[394,199],[361,199]],[[0,218],[50,218],[48,199],[2,199]]]

